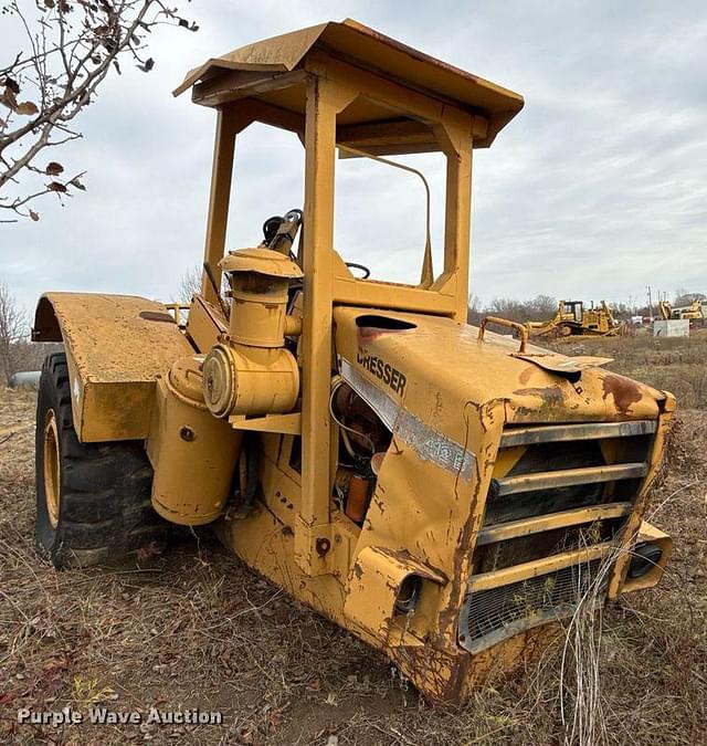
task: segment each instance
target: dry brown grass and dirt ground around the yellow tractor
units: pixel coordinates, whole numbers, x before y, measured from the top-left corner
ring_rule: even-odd
[[[661,586],[602,614],[593,743],[707,743],[707,336],[570,340],[672,388],[677,419],[651,519],[675,551]],[[562,744],[587,692],[562,640],[464,707],[433,707],[384,658],[249,571],[208,534],[158,557],[61,574],[33,548],[31,392],[0,389],[0,743]],[[579,703],[579,704],[578,704]],[[576,708],[576,704],[578,707]],[[221,725],[19,725],[70,706],[221,712]],[[585,729],[582,731],[585,733]]]

